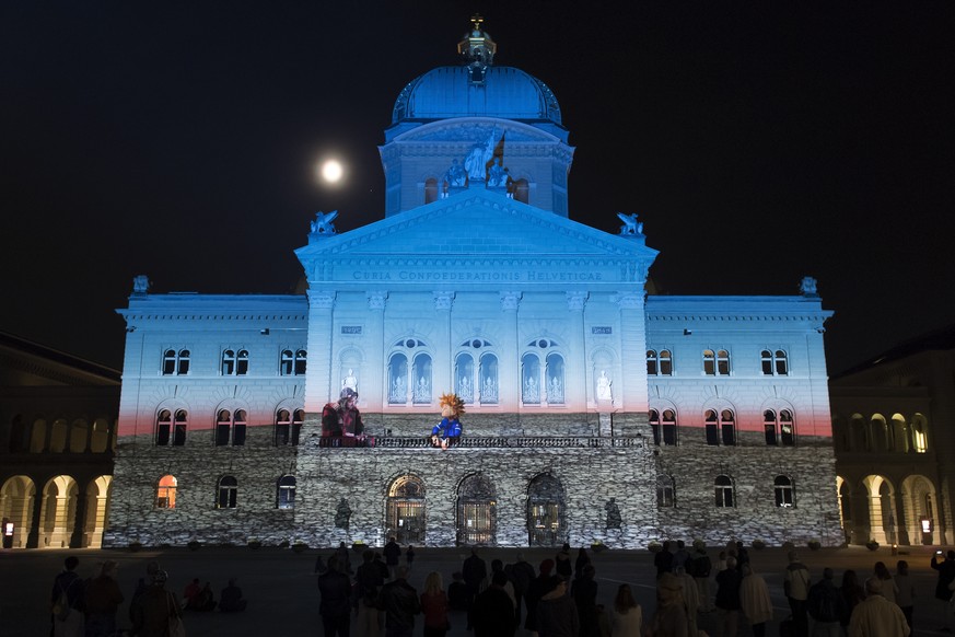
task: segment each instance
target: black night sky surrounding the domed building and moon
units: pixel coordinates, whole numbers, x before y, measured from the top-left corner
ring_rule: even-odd
[[[952,323],[953,5],[736,4],[7,2],[0,331],[119,368],[136,275],[291,291],[316,210],[383,218],[395,97],[475,11],[560,102],[571,218],[637,212],[663,293],[814,276],[831,373]]]

